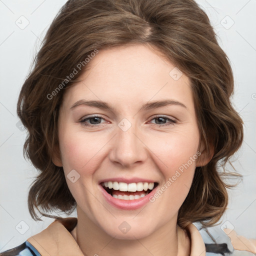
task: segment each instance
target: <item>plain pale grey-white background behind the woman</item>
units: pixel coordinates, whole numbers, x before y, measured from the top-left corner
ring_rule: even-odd
[[[256,1],[197,2],[208,14],[220,46],[230,59],[235,79],[232,102],[244,121],[243,144],[233,157],[234,166],[244,176],[243,182],[229,192],[228,209],[214,230],[222,232],[220,225],[228,220],[238,234],[256,239]],[[37,171],[23,158],[26,134],[17,127],[16,102],[40,40],[64,3],[65,0],[0,0],[0,251],[21,244],[53,221],[43,218],[44,221],[35,222],[28,213],[28,187]],[[23,29],[15,23],[21,23],[20,19],[23,25],[29,22]],[[20,221],[27,224],[27,230]],[[26,231],[24,234],[16,230],[17,224]],[[213,236],[218,233],[214,230]]]

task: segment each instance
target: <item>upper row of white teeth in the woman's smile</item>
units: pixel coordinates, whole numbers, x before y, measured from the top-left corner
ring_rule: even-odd
[[[142,191],[143,189],[146,191],[147,189],[153,189],[154,182],[137,182],[137,183],[125,183],[125,182],[117,182],[117,181],[106,181],[104,182],[105,187],[113,188],[114,190],[120,191]]]

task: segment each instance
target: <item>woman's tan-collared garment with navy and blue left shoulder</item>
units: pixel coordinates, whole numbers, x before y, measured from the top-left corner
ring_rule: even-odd
[[[19,246],[0,253],[0,256],[84,256],[75,236],[72,235],[76,224],[77,218],[75,217],[55,219],[47,228],[29,237]],[[185,230],[178,226],[178,248],[185,240],[186,233],[190,236],[190,256],[221,255],[205,252],[205,243],[201,234],[192,223]],[[182,251],[179,251],[179,255],[182,255]]]

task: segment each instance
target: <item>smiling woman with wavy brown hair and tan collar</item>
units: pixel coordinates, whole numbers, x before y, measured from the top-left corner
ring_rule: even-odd
[[[224,213],[217,163],[243,138],[232,92],[194,1],[67,1],[17,103],[41,171],[29,212],[56,219],[0,255],[205,255],[192,222]]]

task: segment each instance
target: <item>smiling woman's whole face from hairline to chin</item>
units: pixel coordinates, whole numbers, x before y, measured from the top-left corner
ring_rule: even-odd
[[[89,65],[64,94],[53,157],[78,221],[120,239],[175,226],[200,159],[188,77],[142,44],[99,50]]]

